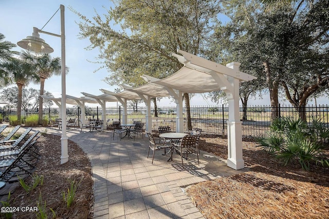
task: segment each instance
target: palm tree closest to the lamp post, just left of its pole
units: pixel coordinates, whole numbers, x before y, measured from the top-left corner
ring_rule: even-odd
[[[40,58],[36,58],[29,52],[23,52],[22,58],[32,63],[36,68],[36,73],[40,77],[40,98],[39,98],[39,125],[42,125],[43,119],[43,98],[45,81],[52,75],[61,75],[61,58],[51,58],[49,54],[45,54]],[[66,67],[66,73],[68,68]]]

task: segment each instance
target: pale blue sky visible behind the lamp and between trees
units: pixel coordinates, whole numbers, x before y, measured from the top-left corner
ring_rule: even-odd
[[[26,36],[32,35],[33,27],[41,29],[50,17],[57,11],[60,4],[65,6],[65,36],[66,36],[66,66],[69,67],[69,74],[66,75],[66,94],[80,97],[81,92],[94,95],[100,95],[99,89],[114,91],[115,87],[110,87],[102,81],[109,75],[107,69],[101,69],[94,73],[100,65],[90,63],[95,61],[95,57],[99,54],[98,49],[85,50],[89,46],[88,39],[78,39],[80,29],[76,22],[80,22],[79,17],[69,7],[92,19],[96,14],[107,14],[106,9],[113,6],[109,0],[95,1],[79,1],[79,0],[0,0],[0,33],[5,35],[5,40],[12,43],[21,41]],[[106,8],[104,9],[103,6]],[[60,11],[56,13],[43,28],[44,31],[60,34]],[[48,43],[54,52],[52,57],[61,56],[61,39],[59,37],[50,36],[40,33],[40,37]],[[15,50],[21,51],[20,47]],[[29,84],[28,87],[40,89],[39,85]],[[46,80],[45,90],[51,92],[55,97],[61,96],[61,76],[53,76]],[[327,99],[319,99],[318,104],[327,104]],[[168,98],[162,98],[160,103],[162,106],[174,105]],[[191,105],[215,105],[211,101],[205,101],[202,96],[196,94],[191,99]],[[288,104],[288,102],[285,102]],[[310,102],[312,104],[312,102]],[[269,105],[268,95],[264,95],[263,99],[251,99],[248,105]],[[116,106],[116,103],[107,103],[106,106]]]

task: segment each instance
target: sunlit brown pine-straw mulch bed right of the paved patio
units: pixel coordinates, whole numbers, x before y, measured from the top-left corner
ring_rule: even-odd
[[[199,143],[201,150],[227,158],[226,139],[203,136]],[[329,218],[329,168],[284,166],[255,145],[243,142],[248,172],[187,188],[206,218]]]

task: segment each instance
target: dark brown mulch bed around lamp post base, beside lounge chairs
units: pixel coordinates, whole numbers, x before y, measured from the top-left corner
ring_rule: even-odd
[[[10,197],[10,206],[37,206],[40,195],[42,204],[46,203],[48,218],[52,218],[50,208],[56,212],[56,218],[92,218],[93,179],[90,162],[82,149],[68,140],[69,161],[60,164],[61,136],[45,134],[38,140],[41,159],[33,174],[43,175],[43,185],[27,193],[21,186]],[[31,177],[26,178],[27,184]],[[75,201],[70,208],[63,201],[63,192],[67,193],[70,182],[78,183]],[[36,218],[38,212],[15,212],[13,218]]]

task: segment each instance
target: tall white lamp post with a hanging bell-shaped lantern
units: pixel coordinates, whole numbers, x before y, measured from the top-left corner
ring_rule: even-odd
[[[62,70],[62,137],[61,137],[61,164],[68,161],[67,135],[66,135],[66,84],[65,84],[65,19],[64,5],[60,5],[61,10],[61,34],[49,33],[33,27],[32,36],[27,36],[17,45],[31,52],[36,57],[41,57],[45,53],[53,52],[53,49],[40,38],[39,33],[45,33],[61,38],[61,70]]]

